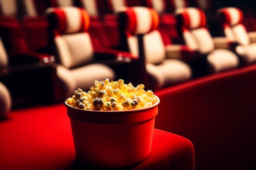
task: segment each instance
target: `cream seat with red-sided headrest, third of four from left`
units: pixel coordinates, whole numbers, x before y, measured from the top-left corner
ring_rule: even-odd
[[[198,56],[191,60],[191,67],[196,77],[239,66],[238,56],[235,53],[228,49],[216,48],[218,44],[206,27],[207,18],[201,9],[194,7],[177,9],[175,15],[184,44],[198,52]]]

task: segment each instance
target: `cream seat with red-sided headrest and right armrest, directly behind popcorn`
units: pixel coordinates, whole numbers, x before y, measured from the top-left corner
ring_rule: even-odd
[[[90,18],[85,9],[49,8],[47,18],[51,28],[49,46],[58,63],[57,76],[62,79],[58,90],[60,99],[66,99],[78,88],[89,90],[95,79],[129,81],[126,74],[129,76],[132,55],[124,51],[95,49],[88,32]]]

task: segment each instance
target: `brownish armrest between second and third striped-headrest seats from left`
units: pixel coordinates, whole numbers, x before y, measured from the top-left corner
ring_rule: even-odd
[[[182,44],[170,44],[165,46],[165,49],[167,58],[176,58],[185,62],[198,55],[198,51],[191,50]]]

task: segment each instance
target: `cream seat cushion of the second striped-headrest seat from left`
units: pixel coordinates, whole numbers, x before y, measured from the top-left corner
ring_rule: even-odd
[[[192,77],[191,68],[181,60],[167,59],[157,67],[164,76],[164,86],[184,82]]]

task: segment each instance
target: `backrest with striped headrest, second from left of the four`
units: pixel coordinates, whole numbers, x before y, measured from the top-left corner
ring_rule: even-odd
[[[159,16],[154,9],[147,7],[128,7],[120,14],[120,26],[124,26],[120,31],[124,31],[121,39],[126,39],[129,51],[139,55],[137,35],[143,34],[144,57],[146,62],[152,64],[161,63],[165,55],[165,47],[161,34],[157,30]]]

